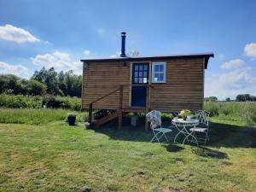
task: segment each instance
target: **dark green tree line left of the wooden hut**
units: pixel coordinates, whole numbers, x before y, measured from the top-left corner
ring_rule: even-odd
[[[28,96],[78,96],[82,93],[82,76],[72,70],[60,73],[54,67],[35,71],[30,79],[21,79],[13,74],[0,75],[0,94],[12,93]]]

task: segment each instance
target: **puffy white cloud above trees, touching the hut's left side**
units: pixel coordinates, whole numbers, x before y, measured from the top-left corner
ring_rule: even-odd
[[[46,68],[54,67],[56,71],[73,70],[74,73],[82,73],[82,63],[72,61],[70,55],[64,52],[55,51],[52,54],[36,55],[31,60],[34,65]]]

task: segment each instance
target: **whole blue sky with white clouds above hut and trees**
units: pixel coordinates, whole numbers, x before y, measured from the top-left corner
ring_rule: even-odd
[[[256,95],[256,1],[0,0],[0,73],[41,67],[81,73],[82,58],[120,49],[169,55],[212,51],[205,96]]]

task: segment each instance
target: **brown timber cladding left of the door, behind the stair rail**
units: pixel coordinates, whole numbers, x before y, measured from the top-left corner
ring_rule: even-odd
[[[119,85],[130,83],[130,63],[123,67],[123,62],[90,62],[84,68],[83,76],[83,108],[89,108],[90,102],[107,95],[119,88]],[[123,107],[129,107],[129,86],[124,86]],[[93,108],[119,108],[119,91],[93,104]]]

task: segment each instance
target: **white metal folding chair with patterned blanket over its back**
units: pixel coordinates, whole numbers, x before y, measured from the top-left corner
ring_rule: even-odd
[[[147,121],[150,122],[150,128],[152,129],[154,133],[154,137],[151,139],[150,142],[157,141],[160,143],[160,138],[165,137],[166,141],[169,143],[168,138],[166,137],[166,133],[172,132],[172,129],[170,128],[163,128],[161,126],[161,113],[160,111],[151,111],[146,114]]]

